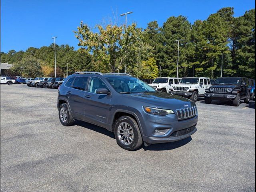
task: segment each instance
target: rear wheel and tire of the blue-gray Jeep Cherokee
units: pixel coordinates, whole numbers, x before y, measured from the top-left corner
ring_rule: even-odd
[[[74,119],[72,117],[71,111],[66,103],[60,105],[59,119],[61,124],[64,126],[71,126],[72,124],[74,124]]]

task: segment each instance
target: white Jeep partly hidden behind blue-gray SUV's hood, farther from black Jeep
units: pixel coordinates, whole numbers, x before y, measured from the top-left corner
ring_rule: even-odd
[[[172,77],[159,77],[155,78],[151,84],[148,84],[152,88],[162,92],[172,91],[172,87],[179,84],[180,78]]]

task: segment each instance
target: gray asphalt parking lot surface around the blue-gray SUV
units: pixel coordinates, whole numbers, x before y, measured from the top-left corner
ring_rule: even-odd
[[[198,131],[130,152],[88,123],[64,127],[58,91],[1,85],[2,191],[255,191],[255,102],[196,104]]]

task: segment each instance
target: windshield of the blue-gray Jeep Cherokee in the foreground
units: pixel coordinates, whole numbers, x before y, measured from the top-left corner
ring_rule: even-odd
[[[106,78],[112,87],[119,93],[139,93],[139,92],[156,92],[145,82],[138,80],[135,77],[109,77]]]

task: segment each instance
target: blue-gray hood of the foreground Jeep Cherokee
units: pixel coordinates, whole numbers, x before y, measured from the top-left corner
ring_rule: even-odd
[[[144,106],[156,108],[175,110],[196,105],[194,102],[187,98],[158,91],[148,93],[124,94],[124,96],[132,100],[138,100],[142,102],[142,105]]]

